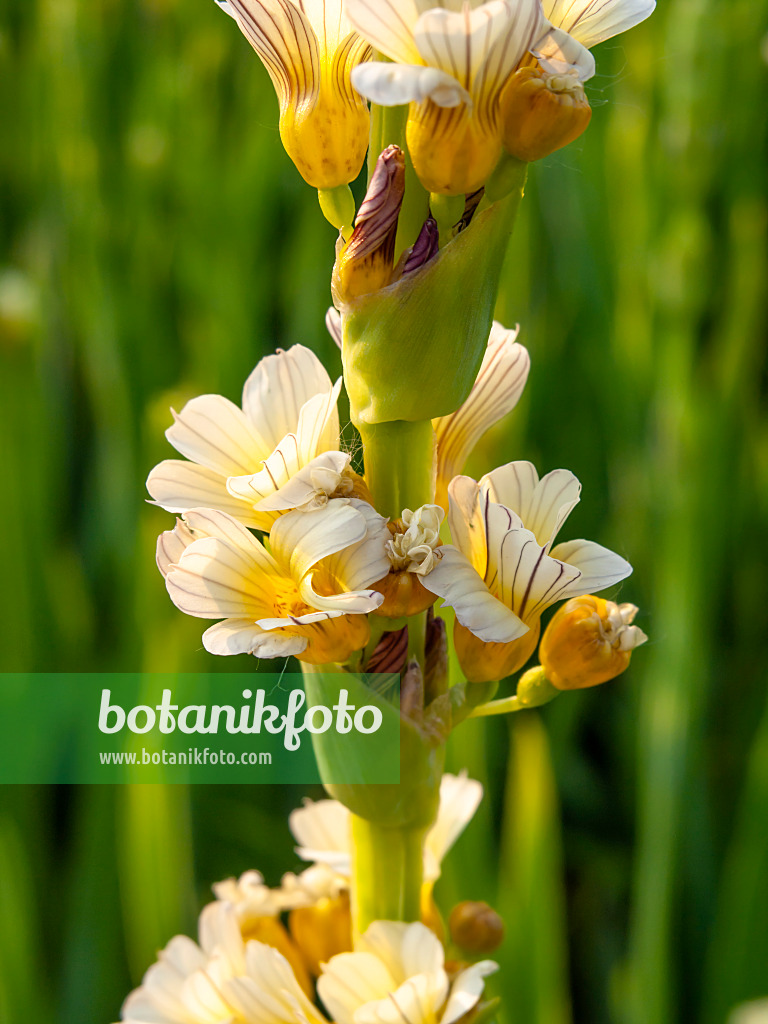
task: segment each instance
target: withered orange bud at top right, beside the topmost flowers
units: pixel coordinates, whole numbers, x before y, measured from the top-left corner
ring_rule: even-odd
[[[572,75],[521,68],[501,97],[504,146],[517,160],[541,160],[579,138],[592,110]]]

